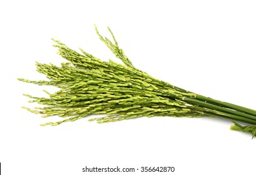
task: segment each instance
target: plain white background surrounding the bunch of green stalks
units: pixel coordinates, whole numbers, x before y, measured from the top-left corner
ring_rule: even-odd
[[[35,71],[35,61],[65,61],[51,46],[52,37],[117,61],[95,34],[97,24],[104,36],[111,27],[137,68],[189,91],[256,109],[255,9],[255,1],[0,1],[2,173],[86,174],[85,166],[255,173],[256,139],[230,131],[230,121],[163,117],[97,124],[85,118],[40,127],[58,118],[21,109],[31,106],[22,94],[45,96],[43,89],[55,89],[17,81],[45,79]]]

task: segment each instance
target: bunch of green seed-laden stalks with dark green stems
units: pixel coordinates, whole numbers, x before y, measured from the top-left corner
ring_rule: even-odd
[[[38,98],[24,94],[36,102],[45,105],[35,109],[27,109],[35,114],[43,114],[43,118],[59,116],[61,121],[45,123],[41,126],[56,126],[68,121],[76,121],[90,114],[106,114],[105,117],[90,119],[98,123],[109,123],[142,116],[170,116],[224,118],[235,124],[230,129],[250,132],[256,136],[256,111],[231,103],[201,96],[173,86],[149,76],[132,66],[131,61],[120,49],[114,34],[112,40],[102,37],[95,26],[101,41],[124,64],[110,60],[102,61],[83,49],[78,53],[60,41],[54,40],[58,54],[67,59],[68,63],[61,66],[36,63],[37,71],[46,74],[49,81],[30,81],[26,83],[51,85],[60,88],[49,95],[49,98]],[[247,123],[242,126],[237,123]]]

